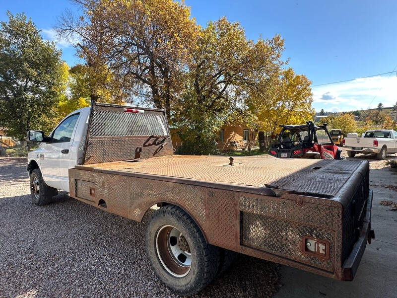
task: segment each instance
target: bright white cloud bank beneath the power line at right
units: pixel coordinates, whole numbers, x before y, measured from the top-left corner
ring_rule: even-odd
[[[385,107],[397,101],[397,76],[373,76],[312,88],[316,111],[352,111],[375,108],[379,102]]]

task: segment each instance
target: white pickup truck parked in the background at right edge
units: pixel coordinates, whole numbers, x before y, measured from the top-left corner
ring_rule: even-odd
[[[359,138],[357,134],[347,134],[343,140],[343,149],[349,157],[356,153],[376,154],[385,159],[387,153],[397,152],[397,132],[394,130],[368,130]]]

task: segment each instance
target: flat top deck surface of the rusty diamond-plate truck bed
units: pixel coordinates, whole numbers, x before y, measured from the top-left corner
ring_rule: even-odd
[[[365,161],[263,157],[171,155],[134,161],[87,164],[79,168],[189,178],[291,190],[331,198]]]

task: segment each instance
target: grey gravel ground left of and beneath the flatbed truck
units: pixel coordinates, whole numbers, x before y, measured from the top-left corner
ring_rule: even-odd
[[[149,266],[144,222],[66,193],[33,205],[26,158],[0,159],[0,204],[0,297],[176,297]],[[196,297],[271,297],[278,272],[275,263],[241,255]]]

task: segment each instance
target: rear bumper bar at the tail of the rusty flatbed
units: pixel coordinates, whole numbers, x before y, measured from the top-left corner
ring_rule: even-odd
[[[358,265],[360,264],[361,257],[363,256],[367,241],[371,243],[371,239],[375,238],[374,230],[371,230],[371,208],[372,208],[373,192],[370,189],[367,199],[367,210],[364,218],[364,223],[360,231],[356,243],[354,243],[353,249],[349,257],[344,261],[342,267],[342,280],[352,281],[354,275],[357,272]]]

